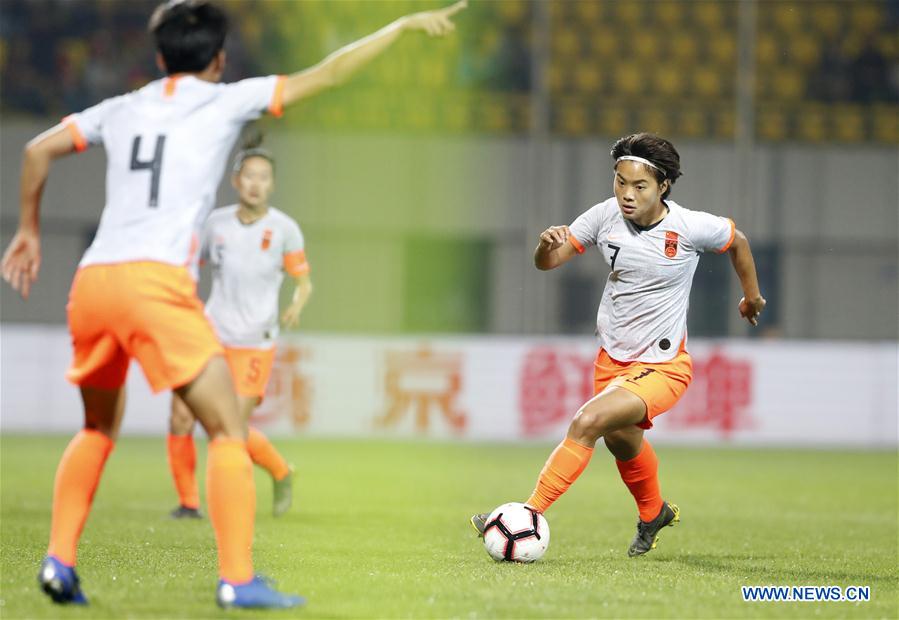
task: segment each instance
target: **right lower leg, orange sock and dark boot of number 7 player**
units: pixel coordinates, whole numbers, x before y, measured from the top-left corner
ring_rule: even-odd
[[[629,426],[603,436],[606,447],[615,456],[621,479],[637,502],[640,518],[637,534],[627,554],[643,555],[655,549],[659,531],[680,521],[680,510],[662,499],[659,488],[658,459],[643,437],[643,429]]]

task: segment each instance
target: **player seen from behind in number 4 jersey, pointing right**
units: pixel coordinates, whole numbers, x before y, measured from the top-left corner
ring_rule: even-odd
[[[255,489],[246,428],[222,347],[189,270],[228,152],[243,125],[344,82],[406,32],[445,35],[463,2],[401,17],[290,76],[219,84],[227,17],[205,0],[171,1],[150,19],[167,77],[74,114],[25,147],[19,228],[3,278],[27,297],[41,262],[39,207],[53,160],[89,145],[106,149],[106,205],[69,295],[84,429],[60,460],[50,544],[38,579],[57,603],[86,604],[75,555],[94,491],[118,435],[124,384],[137,358],[154,391],[174,390],[210,437],[207,499],[219,557],[217,602],[295,607],[254,575]]]

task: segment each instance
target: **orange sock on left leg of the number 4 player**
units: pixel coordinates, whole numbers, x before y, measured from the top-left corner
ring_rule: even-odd
[[[56,468],[47,554],[68,566],[75,565],[78,539],[113,445],[103,433],[84,429],[69,442]]]

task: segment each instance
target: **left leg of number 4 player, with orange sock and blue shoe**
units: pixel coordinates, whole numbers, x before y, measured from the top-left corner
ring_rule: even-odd
[[[106,459],[112,451],[125,411],[123,388],[82,387],[84,429],[69,442],[56,470],[50,545],[38,582],[56,603],[86,605],[87,597],[75,572],[78,539]]]

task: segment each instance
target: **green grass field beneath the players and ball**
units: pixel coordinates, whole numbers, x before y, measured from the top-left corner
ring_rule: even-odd
[[[85,528],[87,609],[53,606],[35,575],[63,437],[4,435],[3,618],[207,618],[215,553],[208,521],[175,522],[165,442],[123,439]],[[493,562],[472,512],[522,501],[551,446],[278,441],[298,466],[298,505],[270,516],[257,473],[260,572],[309,598],[306,618],[896,618],[894,452],[657,448],[682,522],[630,559],[636,509],[597,451],[549,511],[532,565]],[[201,443],[202,446],[202,443]],[[201,453],[204,450],[201,449]],[[202,478],[201,478],[202,480]],[[867,585],[865,603],[745,603],[741,585]]]

